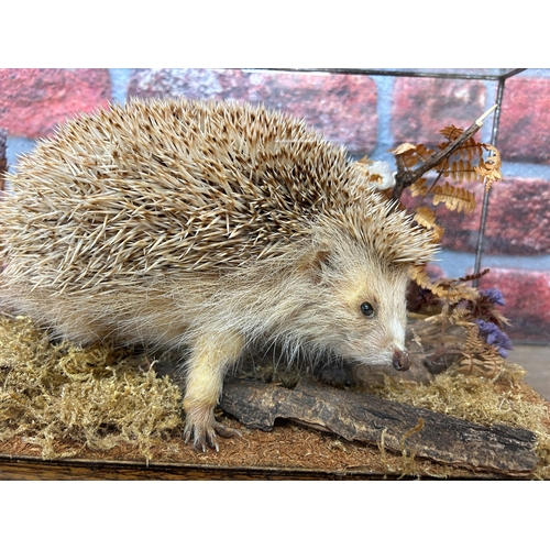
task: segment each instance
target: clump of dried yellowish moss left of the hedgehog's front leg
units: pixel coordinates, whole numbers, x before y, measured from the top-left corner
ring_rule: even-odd
[[[30,319],[0,317],[0,441],[22,437],[44,459],[128,443],[150,460],[180,428],[180,402],[128,350],[52,343]]]

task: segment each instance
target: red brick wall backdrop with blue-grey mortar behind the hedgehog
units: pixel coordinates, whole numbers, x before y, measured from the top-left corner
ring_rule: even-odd
[[[470,125],[496,99],[484,79],[417,78],[239,69],[0,69],[0,128],[8,161],[78,112],[129,97],[183,95],[262,101],[305,118],[360,157],[393,162],[403,142],[432,145],[438,130]],[[491,120],[481,138],[491,139]],[[497,146],[504,180],[491,195],[481,287],[499,287],[519,341],[550,341],[550,69],[506,81]],[[481,186],[471,186],[482,202]],[[481,208],[441,211],[440,266],[448,276],[472,270]]]

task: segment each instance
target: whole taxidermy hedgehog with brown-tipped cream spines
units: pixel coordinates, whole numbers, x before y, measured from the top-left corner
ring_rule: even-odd
[[[215,408],[252,349],[409,367],[406,287],[431,235],[304,121],[133,99],[67,121],[9,180],[4,305],[78,344],[180,352],[199,450],[239,433]]]

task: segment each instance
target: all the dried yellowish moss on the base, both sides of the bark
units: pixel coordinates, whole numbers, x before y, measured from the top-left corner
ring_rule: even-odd
[[[265,369],[270,376],[277,371],[270,364]],[[529,429],[538,436],[540,458],[532,476],[549,479],[549,409],[522,383],[524,374],[521,367],[506,364],[493,380],[447,372],[429,385],[386,378],[370,392],[481,425]],[[260,367],[255,375],[265,373]],[[105,344],[82,349],[51,342],[30,319],[0,317],[0,441],[19,438],[38,446],[44,459],[86,457],[86,450],[107,452],[130,446],[152,460],[160,446],[165,449],[163,457],[170,455],[170,449],[182,453],[179,443],[174,444],[182,439],[182,428],[179,387],[168,376],[161,377],[143,355]],[[262,432],[262,437],[266,436]],[[262,448],[262,441],[257,444]],[[366,451],[361,449],[365,460]],[[395,459],[383,449],[378,466],[381,460],[388,463],[388,472],[398,468],[403,474],[447,475],[440,466],[433,473],[431,462],[409,455],[389,468]]]

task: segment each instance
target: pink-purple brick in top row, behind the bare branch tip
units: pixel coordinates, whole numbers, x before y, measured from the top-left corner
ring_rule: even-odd
[[[466,129],[485,111],[485,84],[436,78],[397,78],[392,130],[395,145],[410,142],[433,146],[439,130],[450,124]]]

